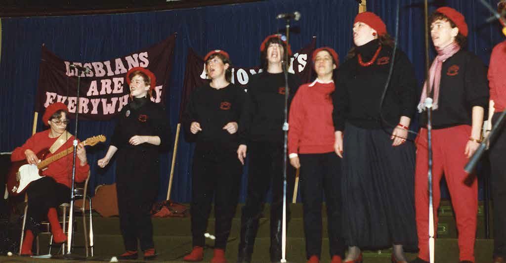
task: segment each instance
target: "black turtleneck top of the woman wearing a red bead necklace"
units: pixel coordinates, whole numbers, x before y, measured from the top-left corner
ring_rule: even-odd
[[[390,70],[393,49],[382,46],[370,66],[369,62],[379,47],[377,39],[356,47],[356,54],[347,60],[335,76],[332,96],[335,130],[344,130],[345,122],[368,129],[396,126],[401,116],[413,117],[416,108],[416,79],[414,68],[406,54],[397,50],[387,94],[380,109],[381,97]],[[382,121],[383,119],[383,121]]]

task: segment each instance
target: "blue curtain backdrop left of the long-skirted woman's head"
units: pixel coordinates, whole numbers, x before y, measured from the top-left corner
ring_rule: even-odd
[[[12,151],[31,136],[43,43],[56,55],[70,61],[99,61],[130,54],[177,32],[170,92],[165,100],[167,118],[175,134],[188,48],[202,56],[212,49],[224,49],[236,66],[259,65],[259,47],[264,37],[284,28],[284,23],[275,16],[293,11],[300,11],[302,18],[293,23],[300,32],[290,34],[292,50],[304,47],[316,36],[317,46],[334,47],[342,58],[346,55],[352,45],[351,30],[358,12],[355,0],[272,0],[134,14],[3,19],[0,151]],[[114,124],[114,120],[81,121],[78,138],[97,134],[110,136]],[[72,132],[73,126],[73,123],[69,125]],[[37,130],[43,128],[39,120]],[[88,148],[91,189],[114,182],[114,162],[105,169],[96,165],[107,145]],[[181,137],[171,194],[174,201],[191,200],[192,151],[192,145]],[[161,155],[160,200],[166,195],[171,160],[172,150]],[[241,201],[244,201],[244,190],[245,182]]]

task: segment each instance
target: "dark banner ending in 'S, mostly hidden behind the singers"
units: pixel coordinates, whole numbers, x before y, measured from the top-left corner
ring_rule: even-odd
[[[313,75],[313,67],[311,65],[311,55],[315,50],[316,38],[313,37],[311,43],[306,47],[299,50],[297,53],[290,57],[290,67],[288,72],[299,76],[301,83],[311,81]],[[234,62],[234,58],[231,58]],[[235,64],[235,63],[234,63]],[[243,86],[246,89],[249,78],[252,75],[258,74],[263,70],[260,67],[254,68],[232,68],[232,83]],[[185,79],[183,85],[183,94],[181,98],[180,119],[183,111],[185,110],[186,103],[191,97],[193,91],[204,84],[208,83],[209,79],[206,78],[205,63],[203,58],[198,56],[193,49],[188,49],[188,59],[186,62]]]

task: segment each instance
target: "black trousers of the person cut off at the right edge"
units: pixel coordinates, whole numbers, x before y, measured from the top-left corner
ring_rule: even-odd
[[[500,113],[494,113],[495,124]],[[506,257],[506,127],[504,122],[490,144],[490,169],[494,204],[494,256]]]

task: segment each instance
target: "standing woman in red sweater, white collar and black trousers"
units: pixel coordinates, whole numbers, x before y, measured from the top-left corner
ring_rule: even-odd
[[[288,153],[291,165],[301,169],[308,262],[320,261],[324,192],[330,257],[332,263],[337,263],[341,262],[344,250],[341,238],[341,159],[334,152],[330,95],[335,90],[332,73],[339,66],[339,57],[333,49],[323,47],[313,52],[312,61],[318,77],[312,83],[301,85],[293,98],[288,118]]]

